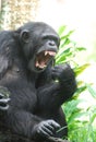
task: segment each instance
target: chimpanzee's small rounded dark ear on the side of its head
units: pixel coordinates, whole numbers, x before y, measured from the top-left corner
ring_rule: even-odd
[[[20,34],[20,38],[24,43],[28,43],[29,42],[29,31],[27,31],[27,29],[22,31],[21,34]]]

